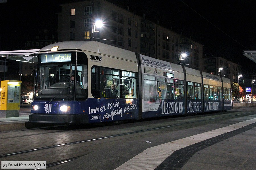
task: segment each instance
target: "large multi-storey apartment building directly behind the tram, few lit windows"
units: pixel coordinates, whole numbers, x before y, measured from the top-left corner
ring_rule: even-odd
[[[106,0],[61,4],[60,41],[99,41],[193,69],[202,69],[203,45]],[[97,20],[103,27],[95,29]],[[185,53],[185,57],[181,54]]]

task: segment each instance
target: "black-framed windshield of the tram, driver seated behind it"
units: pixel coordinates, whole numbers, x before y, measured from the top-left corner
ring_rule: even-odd
[[[51,60],[55,56],[60,60]],[[61,58],[63,56],[66,58]],[[77,62],[75,52],[41,54],[38,61],[41,62],[36,73],[35,100],[85,100],[88,97],[88,65],[84,53],[78,52]]]

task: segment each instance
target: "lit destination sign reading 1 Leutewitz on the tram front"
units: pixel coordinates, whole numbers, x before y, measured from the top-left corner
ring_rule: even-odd
[[[42,54],[40,57],[41,57],[41,63],[71,61],[71,53]]]

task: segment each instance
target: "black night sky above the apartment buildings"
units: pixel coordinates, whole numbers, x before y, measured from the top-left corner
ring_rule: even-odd
[[[71,1],[71,0],[70,0]],[[24,49],[24,42],[44,29],[57,29],[60,3],[69,0],[9,1],[0,3],[1,49]],[[73,0],[74,1],[74,0]],[[251,72],[256,63],[242,55],[243,50],[256,50],[256,1],[254,0],[109,0],[146,19],[204,45],[203,50],[243,65]],[[72,2],[72,1],[71,1]],[[247,65],[250,65],[248,67]],[[251,69],[253,67],[253,70]]]

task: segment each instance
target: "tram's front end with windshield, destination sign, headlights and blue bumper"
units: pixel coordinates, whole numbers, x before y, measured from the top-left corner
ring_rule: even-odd
[[[38,54],[29,122],[86,123],[88,119],[85,114],[79,114],[79,108],[87,97],[88,59],[85,53],[58,50]]]

